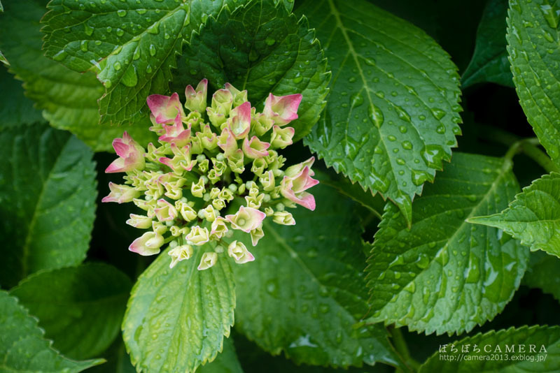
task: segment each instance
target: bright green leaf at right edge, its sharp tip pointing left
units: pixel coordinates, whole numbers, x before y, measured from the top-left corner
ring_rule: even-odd
[[[515,196],[507,209],[470,222],[503,229],[533,251],[560,257],[560,174],[544,175]]]

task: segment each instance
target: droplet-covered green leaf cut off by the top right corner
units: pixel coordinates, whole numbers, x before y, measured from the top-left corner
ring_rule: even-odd
[[[519,103],[540,143],[560,166],[560,5],[512,0],[507,11],[507,52]]]

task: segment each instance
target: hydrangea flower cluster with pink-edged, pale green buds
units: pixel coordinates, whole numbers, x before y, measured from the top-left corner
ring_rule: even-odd
[[[293,225],[286,207],[315,209],[307,189],[318,184],[311,178],[314,158],[282,170],[286,159],[276,152],[292,144],[295,130],[286,126],[297,119],[301,94],[269,94],[262,112],[247,101],[247,92],[230,84],[214,93],[207,107],[208,81],[179,95],[148,96],[159,146],[144,149],[128,133],[113,140],[118,159],[106,173],[125,173],[122,185],[109,183],[111,193],[103,202],[133,202],[145,214],[130,214],[127,224],[149,229],[130,244],[130,251],[154,255],[167,243],[170,268],[191,258],[194,250],[211,244],[198,265],[206,270],[225,253],[236,263],[254,260],[239,241],[228,242],[233,230],[251,235],[255,246],[263,237],[262,221]],[[250,170],[250,173],[248,172]],[[249,181],[244,182],[241,178]],[[237,198],[243,201],[235,214],[225,214]]]

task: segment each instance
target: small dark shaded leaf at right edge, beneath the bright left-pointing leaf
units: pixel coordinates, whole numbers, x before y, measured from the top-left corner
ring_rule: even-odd
[[[531,253],[521,284],[530,288],[540,288],[560,301],[560,260],[543,251]]]

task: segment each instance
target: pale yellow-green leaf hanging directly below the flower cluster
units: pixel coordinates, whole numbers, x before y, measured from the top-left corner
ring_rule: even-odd
[[[235,307],[233,274],[223,257],[197,270],[202,252],[169,269],[167,251],[132,288],[123,337],[138,372],[194,372],[214,360],[230,335]]]

